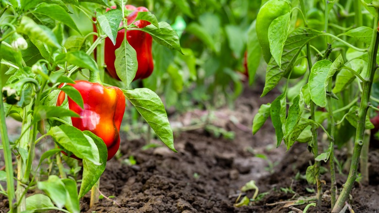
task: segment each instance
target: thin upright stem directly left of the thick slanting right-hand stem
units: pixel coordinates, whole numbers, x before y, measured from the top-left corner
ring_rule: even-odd
[[[329,81],[328,90],[331,91],[332,89],[332,79]],[[333,108],[331,104],[331,96],[327,95],[327,111],[329,112],[329,119],[330,119],[330,156],[329,156],[329,163],[330,163],[330,204],[331,208],[334,207],[334,204],[336,203],[336,192],[337,192],[337,182],[336,182],[336,171],[334,169],[334,133],[335,133],[335,122],[334,122],[334,116],[333,116]]]

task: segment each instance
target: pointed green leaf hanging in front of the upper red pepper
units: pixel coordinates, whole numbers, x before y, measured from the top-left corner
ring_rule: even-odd
[[[137,52],[130,46],[127,39],[124,39],[115,54],[116,73],[121,81],[125,83],[126,88],[129,88],[138,69]]]

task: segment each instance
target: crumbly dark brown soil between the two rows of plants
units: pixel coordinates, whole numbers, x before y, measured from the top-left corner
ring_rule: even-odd
[[[288,213],[304,210],[308,203],[294,205],[291,200],[314,197],[314,185],[305,180],[305,172],[312,161],[307,144],[295,143],[286,152],[284,144],[276,148],[276,137],[268,120],[256,135],[251,133],[254,114],[260,104],[272,102],[277,94],[258,98],[261,91],[245,89],[235,102],[234,109],[220,109],[213,113],[212,124],[233,131],[233,140],[215,137],[205,128],[175,131],[174,144],[178,153],[166,147],[142,150],[143,139],[121,141],[122,157],[108,161],[101,177],[100,191],[115,196],[113,202],[101,199],[89,208],[89,195],[81,201],[81,211],[112,213]],[[191,121],[206,115],[207,111],[192,110],[171,116],[177,126],[191,125]],[[123,137],[125,138],[125,137]],[[159,143],[158,141],[156,143]],[[320,147],[327,145],[319,144]],[[263,154],[267,160],[258,158]],[[336,155],[344,160],[345,150]],[[130,156],[135,165],[125,163]],[[379,212],[379,149],[369,153],[369,185],[355,184],[349,201],[356,213]],[[328,168],[327,164],[323,164]],[[337,172],[337,187],[342,189],[347,172]],[[319,208],[308,212],[330,212],[330,177],[321,176],[324,201]],[[249,206],[235,207],[237,199],[252,198],[254,190],[241,192],[247,182],[254,180],[259,199]],[[7,200],[0,195],[0,212]],[[312,200],[314,202],[314,200]],[[120,205],[120,206],[118,206]],[[295,208],[295,209],[294,209]],[[6,211],[6,210],[5,210]]]

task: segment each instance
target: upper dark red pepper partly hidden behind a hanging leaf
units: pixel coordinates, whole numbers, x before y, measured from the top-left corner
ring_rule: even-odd
[[[116,6],[112,6],[112,9],[115,9],[115,8]],[[146,7],[136,8],[133,5],[125,5],[125,8],[127,10],[133,10],[133,12],[129,16],[126,17],[128,20],[128,25],[133,23],[133,21],[136,19],[138,15],[138,12],[149,11]],[[108,10],[110,10],[110,8],[106,9],[106,11]],[[144,28],[149,24],[150,22],[145,21],[145,20],[138,20],[134,22],[134,25],[136,25],[138,28]],[[122,26],[122,22],[120,23],[120,26]],[[94,32],[97,32],[95,25],[93,25],[93,30]],[[118,79],[118,80],[120,80],[120,78],[117,75],[116,68],[115,68],[115,59],[116,59],[115,51],[121,46],[121,43],[124,39],[124,33],[125,33],[125,29],[122,29],[117,33],[116,45],[113,45],[112,41],[108,37],[105,38],[104,62],[106,65],[106,71],[108,71],[108,73],[113,78]],[[94,40],[96,40],[96,38],[97,36],[94,36]],[[153,38],[151,37],[151,35],[139,30],[128,30],[126,32],[126,39],[128,40],[129,44],[137,52],[138,70],[137,70],[136,77],[134,78],[134,80],[144,79],[144,78],[149,77],[154,70],[153,54],[152,54]]]

